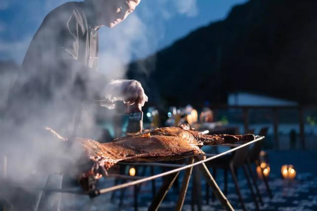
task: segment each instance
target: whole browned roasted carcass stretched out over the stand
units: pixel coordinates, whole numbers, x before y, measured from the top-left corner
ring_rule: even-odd
[[[106,174],[107,170],[120,161],[158,162],[180,160],[202,154],[204,145],[251,141],[255,136],[247,135],[206,135],[192,130],[188,125],[161,127],[142,133],[115,139],[111,143],[99,143],[91,139],[75,138],[87,159],[93,162],[91,172]]]

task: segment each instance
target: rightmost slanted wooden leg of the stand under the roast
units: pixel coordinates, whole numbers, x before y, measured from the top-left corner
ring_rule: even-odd
[[[199,166],[199,169],[201,170],[201,172],[203,173],[203,175],[205,176],[208,184],[210,185],[211,190],[213,191],[213,193],[215,194],[217,199],[220,201],[222,207],[226,211],[234,211],[234,209],[231,206],[230,202],[224,196],[224,194],[220,190],[219,186],[217,185],[216,181],[213,179],[213,177],[212,177],[211,173],[209,172],[208,168],[206,167],[206,165],[203,163],[203,164],[198,165],[198,166]]]

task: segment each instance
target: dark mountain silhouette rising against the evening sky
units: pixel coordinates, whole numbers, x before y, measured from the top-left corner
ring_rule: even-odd
[[[149,58],[129,65],[150,104],[225,103],[247,91],[317,100],[317,1],[250,0]]]

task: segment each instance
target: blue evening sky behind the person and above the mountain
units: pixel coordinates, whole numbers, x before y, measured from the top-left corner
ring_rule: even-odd
[[[100,30],[100,57],[111,55],[123,63],[145,57],[200,26],[225,18],[232,6],[245,1],[142,0],[125,22]],[[67,0],[1,0],[0,60],[21,63],[46,14],[64,2]],[[120,42],[115,39],[118,34],[125,40],[123,44],[113,44]]]

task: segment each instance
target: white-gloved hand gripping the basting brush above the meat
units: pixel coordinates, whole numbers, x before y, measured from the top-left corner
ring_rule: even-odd
[[[113,80],[106,85],[105,95],[108,103],[101,103],[108,109],[113,109],[114,101],[123,101],[129,105],[136,103],[141,110],[145,102],[148,102],[148,96],[140,82],[136,80]]]

